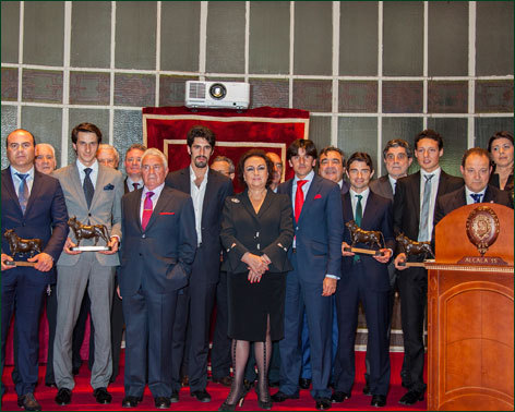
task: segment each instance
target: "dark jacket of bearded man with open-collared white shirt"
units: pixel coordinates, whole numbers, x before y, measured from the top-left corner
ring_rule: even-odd
[[[199,274],[202,278],[195,280],[213,283],[219,278],[221,209],[226,197],[232,194],[232,182],[214,170],[208,169],[207,173],[202,206],[202,247],[196,254],[204,270]],[[190,167],[168,173],[165,183],[171,189],[191,194]],[[195,272],[192,276],[195,278],[197,275]]]

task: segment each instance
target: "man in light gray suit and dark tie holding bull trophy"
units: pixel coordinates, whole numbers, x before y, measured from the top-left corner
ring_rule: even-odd
[[[57,170],[70,217],[84,225],[104,225],[110,233],[109,251],[72,251],[76,239],[68,238],[57,266],[57,329],[53,343],[53,373],[59,392],[58,404],[71,402],[75,381],[72,375],[72,331],[87,284],[95,325],[95,363],[91,385],[98,403],[110,403],[107,391],[111,376],[110,306],[115,267],[119,265],[118,246],[121,240],[121,196],[123,178],[118,170],[99,165],[96,152],[101,142],[100,130],[92,123],[81,123],[72,130],[76,161]],[[84,240],[83,245],[88,241]],[[101,242],[101,241],[100,241]]]

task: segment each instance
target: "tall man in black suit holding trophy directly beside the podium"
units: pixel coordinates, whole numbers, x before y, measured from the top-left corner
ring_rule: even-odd
[[[463,179],[445,173],[440,167],[443,140],[428,129],[415,138],[415,157],[421,170],[397,181],[394,196],[394,230],[415,241],[429,241],[433,230],[436,198],[463,186]],[[406,262],[404,251],[395,257],[399,270],[397,283],[400,295],[400,316],[404,336],[404,364],[406,375],[403,386],[408,391],[400,398],[402,404],[423,400],[423,318],[428,295],[428,272],[424,268],[399,266]],[[409,256],[409,260],[421,260]]]

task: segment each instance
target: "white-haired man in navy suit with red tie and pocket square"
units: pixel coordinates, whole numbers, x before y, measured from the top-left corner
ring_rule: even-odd
[[[123,408],[143,399],[146,373],[155,407],[170,407],[171,339],[178,290],[195,256],[191,197],[165,186],[168,160],[156,148],[142,158],[144,186],[123,196],[120,293],[125,318]]]

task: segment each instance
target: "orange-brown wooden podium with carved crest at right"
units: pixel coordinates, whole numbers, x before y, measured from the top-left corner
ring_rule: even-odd
[[[483,256],[467,220],[489,207],[499,235]],[[477,225],[476,225],[477,229]],[[460,207],[435,228],[428,263],[428,410],[514,409],[513,209]]]

